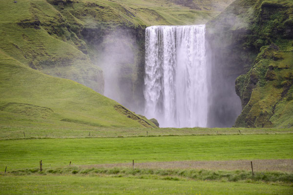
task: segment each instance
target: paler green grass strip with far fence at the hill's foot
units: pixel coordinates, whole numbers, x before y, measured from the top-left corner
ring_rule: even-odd
[[[293,134],[292,128],[102,128],[58,120],[31,120],[13,113],[5,113],[0,121],[0,139]]]

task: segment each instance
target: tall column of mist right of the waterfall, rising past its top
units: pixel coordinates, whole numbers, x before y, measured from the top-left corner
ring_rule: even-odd
[[[221,20],[219,20],[221,19]],[[209,68],[209,127],[231,127],[242,112],[235,80],[252,64],[249,50],[243,49],[247,22],[226,10],[207,24],[206,48]]]

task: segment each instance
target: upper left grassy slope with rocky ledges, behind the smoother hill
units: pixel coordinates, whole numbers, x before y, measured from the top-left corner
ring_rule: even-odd
[[[3,0],[0,10],[1,51],[31,68],[103,93],[102,70],[79,49],[84,42],[52,5],[45,0]]]

